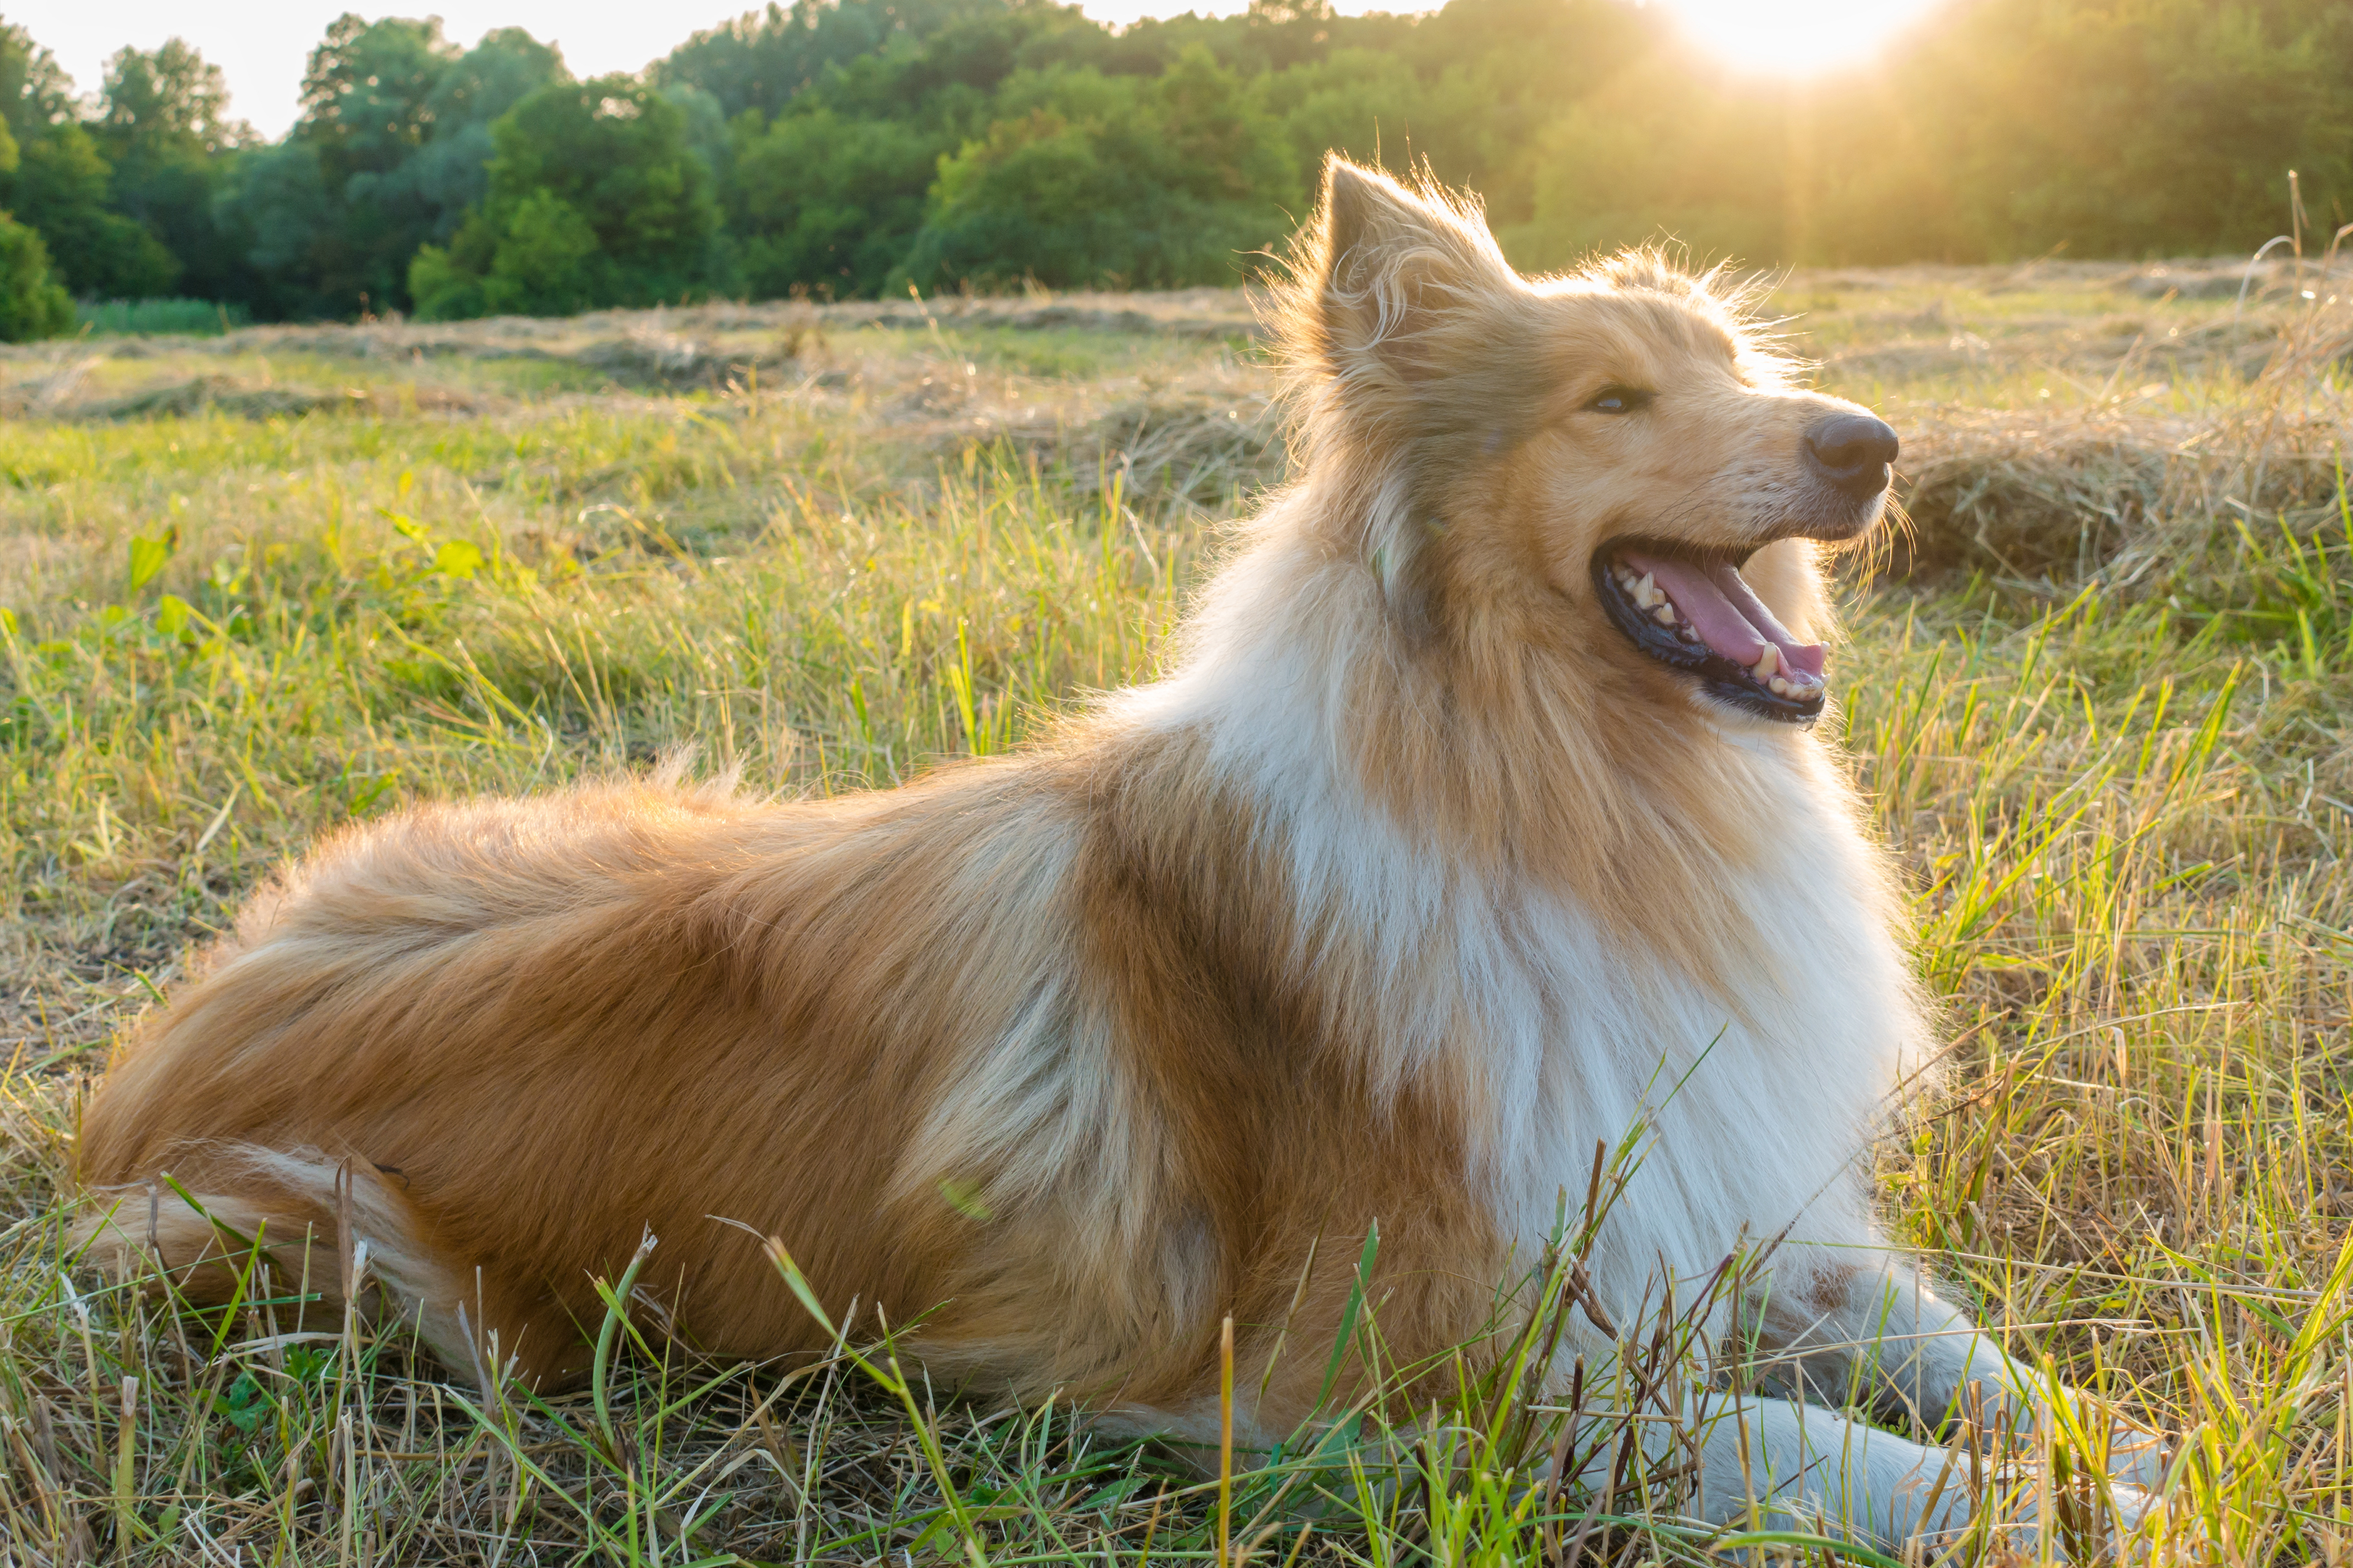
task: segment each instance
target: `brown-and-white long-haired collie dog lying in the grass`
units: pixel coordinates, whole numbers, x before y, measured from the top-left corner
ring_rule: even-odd
[[[941,1380],[1195,1436],[1231,1316],[1264,1443],[1327,1368],[1278,1340],[1329,1347],[1365,1286],[1395,1363],[1445,1361],[1642,1124],[1602,1316],[1784,1237],[1715,1324],[1784,1375],[1725,1394],[1699,1509],[1965,1528],[1948,1450],[1831,1408],[2075,1420],[1873,1218],[1932,1018],[1814,729],[1817,552],[1880,522],[1897,435],[1708,280],[1527,280],[1344,160],[1273,313],[1299,477],[1165,679],[847,799],[346,827],[113,1063],[85,1234],[198,1293],[224,1232],[313,1291],[304,1237],[358,1239],[442,1361],[544,1387],[647,1232],[682,1340],[826,1349],[776,1237]]]

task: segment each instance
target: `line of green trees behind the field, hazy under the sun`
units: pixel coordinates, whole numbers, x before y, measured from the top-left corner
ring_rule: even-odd
[[[2353,219],[2344,0],[1953,0],[1746,78],[1633,0],[1108,28],[1054,0],[793,0],[635,75],[341,16],[278,141],[172,40],[94,94],[0,21],[0,336],[75,301],[254,320],[1235,282],[1341,148],[1485,195],[1522,268],[2240,252]]]

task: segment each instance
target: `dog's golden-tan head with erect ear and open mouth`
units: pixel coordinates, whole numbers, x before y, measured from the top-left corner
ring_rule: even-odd
[[[1809,541],[1880,522],[1894,430],[1793,386],[1704,277],[1527,280],[1473,207],[1339,158],[1294,261],[1308,470],[1351,475],[1400,616],[1518,621],[1720,715],[1821,712]]]

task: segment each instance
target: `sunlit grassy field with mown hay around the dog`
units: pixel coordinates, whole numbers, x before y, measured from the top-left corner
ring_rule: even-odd
[[[2334,1566],[2353,275],[2238,282],[1819,273],[1769,310],[1906,437],[1913,529],[1852,564],[1833,682],[1955,1041],[1880,1154],[1899,1232],[2181,1434],[2165,1561]],[[1061,1410],[633,1331],[536,1401],[398,1333],[289,1342],[268,1291],[160,1309],[59,1215],[108,1041],[273,860],[673,755],[833,792],[1016,745],[1153,672],[1280,477],[1268,393],[1217,292],[0,353],[0,1561],[1212,1559],[1214,1486]],[[1591,1500],[1511,1486],[1544,1410],[1497,1410],[1402,1483],[1235,1479],[1235,1549],[1699,1552],[1666,1500],[1579,1530]]]

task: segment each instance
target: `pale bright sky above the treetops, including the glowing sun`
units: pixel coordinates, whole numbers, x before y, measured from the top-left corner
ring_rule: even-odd
[[[1341,12],[1424,9],[1433,0],[1339,0]],[[1654,0],[1701,45],[1758,71],[1814,71],[1871,54],[1897,26],[1937,0]],[[346,9],[362,16],[440,14],[442,31],[473,45],[492,28],[518,26],[553,40],[574,75],[638,71],[668,54],[699,28],[748,9],[753,0],[31,0],[7,19],[33,33],[73,75],[80,92],[96,92],[106,59],[136,45],[153,49],[179,35],[228,78],[231,113],[264,136],[294,125],[301,68],[313,45]],[[1101,21],[1198,12],[1238,12],[1247,0],[1085,0]]]

